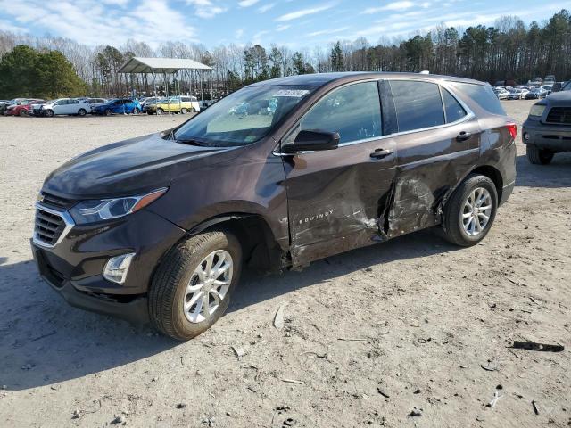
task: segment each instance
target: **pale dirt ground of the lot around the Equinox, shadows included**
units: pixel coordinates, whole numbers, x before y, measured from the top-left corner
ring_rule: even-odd
[[[532,103],[504,106],[520,126]],[[42,181],[181,119],[0,118],[0,426],[571,425],[571,156],[532,166],[519,136],[517,186],[475,247],[420,232],[246,273],[228,314],[186,343],[68,306],[30,261]]]

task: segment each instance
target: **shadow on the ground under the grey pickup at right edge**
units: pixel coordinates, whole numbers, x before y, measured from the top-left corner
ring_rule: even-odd
[[[571,187],[571,152],[557,153],[549,165],[533,165],[525,154],[516,159],[516,185],[522,187]]]

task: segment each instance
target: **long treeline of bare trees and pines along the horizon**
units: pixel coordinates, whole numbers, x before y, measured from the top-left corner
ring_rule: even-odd
[[[226,95],[267,78],[345,70],[430,70],[489,82],[509,79],[525,83],[549,74],[559,80],[571,78],[571,15],[567,10],[529,25],[517,17],[503,17],[491,27],[459,29],[441,25],[407,39],[379,37],[376,45],[360,38],[297,51],[284,45],[233,44],[209,50],[203,45],[182,42],[163,43],[153,49],[134,40],[121,46],[90,47],[59,37],[0,31],[0,54],[11,52],[17,45],[34,47],[39,55],[59,51],[73,64],[91,95],[106,96],[124,95],[132,88],[147,94],[165,89],[161,77],[118,73],[120,65],[133,56],[192,58],[210,65],[211,72],[181,72],[176,77],[178,81],[171,81],[171,91],[177,85],[183,92],[205,98]],[[3,74],[1,71],[0,83],[5,79]],[[19,94],[27,91],[21,87]],[[0,92],[2,96],[6,95]]]

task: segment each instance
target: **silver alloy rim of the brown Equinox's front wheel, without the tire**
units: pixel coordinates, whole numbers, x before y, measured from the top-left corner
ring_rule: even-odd
[[[191,323],[211,317],[228,294],[234,263],[228,251],[217,250],[206,256],[194,269],[186,285],[183,311]]]

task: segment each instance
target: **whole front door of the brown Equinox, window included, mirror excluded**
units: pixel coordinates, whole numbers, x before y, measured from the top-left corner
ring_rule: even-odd
[[[335,150],[284,156],[294,266],[374,243],[396,166],[384,136],[376,80],[333,89],[285,136],[302,130],[337,132]]]

